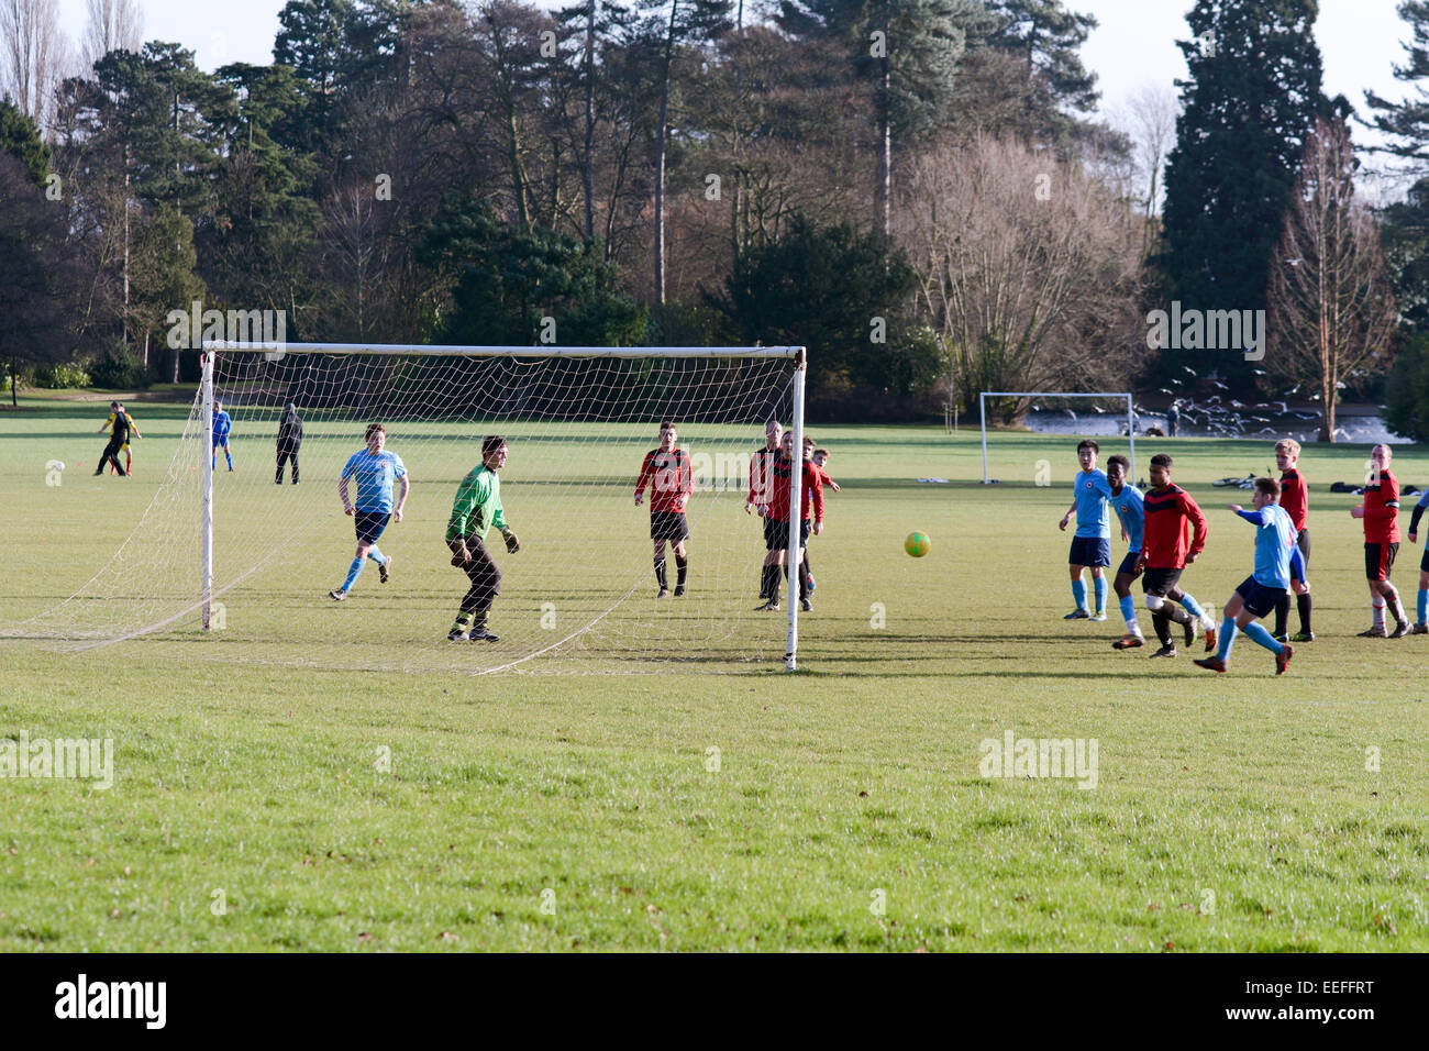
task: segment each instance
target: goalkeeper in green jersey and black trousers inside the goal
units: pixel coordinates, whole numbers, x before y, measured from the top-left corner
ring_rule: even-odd
[[[514,553],[522,549],[516,533],[506,525],[506,515],[502,510],[502,480],[496,476],[496,472],[506,466],[506,439],[500,435],[487,435],[482,440],[482,462],[462,479],[456,500],[452,503],[446,542],[452,549],[452,565],[466,573],[472,588],[462,599],[462,611],[447,632],[450,642],[499,641],[486,628],[492,602],[502,593],[502,571],[496,568],[492,553],[486,549],[486,533],[496,526],[506,538],[506,551]]]

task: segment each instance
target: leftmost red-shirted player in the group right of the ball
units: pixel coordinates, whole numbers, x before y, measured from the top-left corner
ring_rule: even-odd
[[[1206,652],[1216,648],[1216,622],[1206,616],[1195,596],[1180,589],[1180,575],[1206,549],[1209,529],[1206,516],[1185,489],[1170,480],[1172,458],[1166,453],[1152,456],[1152,488],[1142,498],[1146,513],[1146,531],[1142,535],[1142,558],[1137,565],[1145,571],[1142,591],[1146,593],[1146,608],[1152,613],[1152,625],[1160,649],[1152,656],[1176,656],[1176,643],[1170,641],[1170,621],[1186,631],[1186,645],[1196,641],[1196,623],[1206,629]],[[1195,529],[1195,539],[1189,533]],[[1175,609],[1166,601],[1179,602]]]

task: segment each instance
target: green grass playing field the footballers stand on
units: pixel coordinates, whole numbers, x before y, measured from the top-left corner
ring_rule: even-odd
[[[0,633],[129,535],[187,418],[133,405],[141,473],[96,479],[101,405],[0,413]],[[1240,639],[1216,676],[1185,651],[1113,652],[1115,601],[1106,623],[1062,619],[1075,440],[995,436],[1003,485],[983,488],[976,432],[812,432],[843,492],[812,548],[796,675],[782,628],[747,609],[752,522],[747,569],[693,555],[696,582],[743,575],[737,612],[720,596],[729,609],[659,613],[719,625],[699,659],[632,658],[663,623],[644,512],[627,506],[637,439],[577,486],[523,476],[516,443],[503,475],[529,548],[502,558],[493,626],[514,631],[512,653],[536,638],[520,559],[556,543],[550,519],[576,531],[572,602],[633,589],[579,655],[483,676],[433,642],[462,591],[439,553],[454,463],[417,476],[387,589],[369,571],[343,606],[323,598],[350,533],[322,525],[293,535],[299,569],[227,596],[210,638],[186,622],[84,651],[0,642],[0,739],[113,738],[116,771],[107,791],[0,779],[0,949],[1429,949],[1429,641],[1353,638],[1368,623],[1356,498],[1328,492],[1362,476],[1363,446],[1302,460],[1319,641],[1276,678]],[[269,473],[269,442],[234,449]],[[1252,529],[1223,510],[1249,493],[1210,480],[1265,473],[1273,453],[1146,440],[1139,475],[1157,450],[1210,516],[1185,583],[1219,609]],[[50,459],[70,465],[61,486]],[[333,463],[304,462],[313,508],[336,502]],[[1429,455],[1400,448],[1395,469],[1425,485]],[[609,510],[577,506],[606,495]],[[252,508],[250,532],[270,513]],[[932,536],[925,559],[902,551],[912,529]],[[256,558],[244,535],[223,549],[230,569]],[[1418,561],[1406,543],[1395,573],[1410,609]],[[1095,739],[1095,789],[982,776],[980,742],[1007,731]]]

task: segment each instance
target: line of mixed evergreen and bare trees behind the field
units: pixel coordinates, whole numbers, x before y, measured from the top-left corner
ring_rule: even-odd
[[[1412,343],[1423,242],[1413,194],[1353,193],[1315,7],[1198,0],[1172,144],[1175,103],[1096,116],[1063,0],[290,0],[270,64],[213,73],[91,0],[81,71],[0,82],[0,355],[186,379],[193,302],[294,342],[805,343],[813,412],[909,419],[1156,388],[1175,299],[1272,319],[1208,380],[1332,405]]]

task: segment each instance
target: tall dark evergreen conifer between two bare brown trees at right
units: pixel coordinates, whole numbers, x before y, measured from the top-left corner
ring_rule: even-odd
[[[1177,82],[1160,257],[1182,310],[1266,306],[1305,140],[1326,110],[1316,10],[1316,0],[1196,0],[1186,16],[1192,39],[1179,47],[1190,79]],[[1195,353],[1240,392],[1252,386],[1242,349]]]

